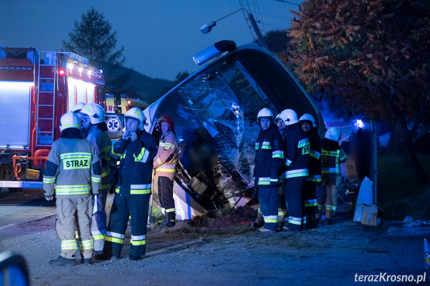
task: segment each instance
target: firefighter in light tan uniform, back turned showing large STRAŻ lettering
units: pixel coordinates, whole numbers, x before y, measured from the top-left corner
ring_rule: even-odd
[[[61,138],[52,144],[43,174],[46,200],[57,197],[56,229],[61,254],[50,265],[74,265],[78,249],[75,227],[81,244],[81,261],[91,264],[94,239],[91,235],[91,194],[98,194],[101,171],[96,148],[80,139],[79,117],[69,111],[60,118]],[[55,189],[55,191],[54,191]]]

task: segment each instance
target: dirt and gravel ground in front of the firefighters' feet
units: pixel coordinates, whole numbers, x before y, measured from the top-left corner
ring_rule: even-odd
[[[0,213],[3,205],[0,205]],[[416,285],[417,282],[359,282],[360,275],[425,274],[423,237],[392,237],[387,226],[352,221],[341,207],[333,225],[298,233],[258,234],[243,211],[179,223],[171,230],[152,226],[146,256],[119,261],[51,267],[60,252],[55,216],[0,228],[0,251],[21,253],[33,286],[118,285]],[[198,226],[201,225],[201,226]],[[357,274],[357,276],[355,276]],[[430,274],[421,285],[430,285]]]

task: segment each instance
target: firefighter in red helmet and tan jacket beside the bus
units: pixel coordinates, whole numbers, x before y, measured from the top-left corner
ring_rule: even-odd
[[[160,143],[154,158],[154,184],[157,184],[158,198],[167,217],[165,227],[175,226],[175,201],[173,199],[173,180],[176,173],[178,158],[178,139],[174,133],[173,119],[167,115],[158,120],[161,129]]]

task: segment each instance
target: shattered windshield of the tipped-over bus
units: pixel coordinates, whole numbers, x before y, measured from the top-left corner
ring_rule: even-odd
[[[288,94],[294,102],[287,103]],[[275,116],[294,107],[297,113],[315,114],[285,69],[256,50],[238,51],[212,63],[160,104],[157,117],[168,115],[175,121],[180,163],[187,174],[184,183],[198,177],[208,185],[200,199],[207,196],[225,204],[249,188],[260,132],[257,113],[263,107]]]

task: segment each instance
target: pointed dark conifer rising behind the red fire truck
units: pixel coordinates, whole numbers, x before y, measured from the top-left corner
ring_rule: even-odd
[[[63,49],[71,51],[90,60],[90,64],[103,68],[122,66],[125,58],[124,47],[116,50],[117,32],[112,31],[112,25],[105,20],[103,13],[94,7],[81,15],[81,20],[75,20],[69,40],[63,40]]]

